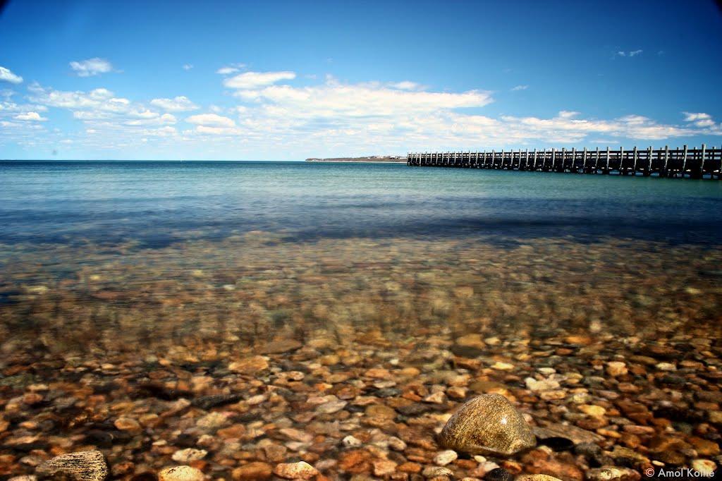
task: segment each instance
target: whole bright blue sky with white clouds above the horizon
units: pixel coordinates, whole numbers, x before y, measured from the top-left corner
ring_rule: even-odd
[[[29,1],[0,158],[722,144],[713,1]]]

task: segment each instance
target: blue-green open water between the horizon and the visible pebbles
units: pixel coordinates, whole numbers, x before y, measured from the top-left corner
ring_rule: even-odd
[[[492,235],[716,244],[722,183],[306,162],[0,162],[0,242]]]

